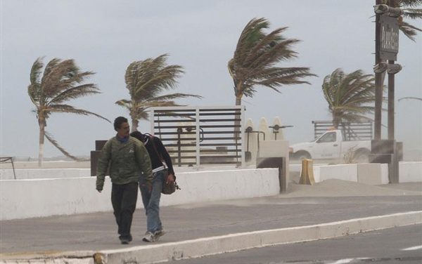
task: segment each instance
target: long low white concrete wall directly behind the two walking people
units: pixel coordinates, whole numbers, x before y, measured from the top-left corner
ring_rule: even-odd
[[[95,190],[95,177],[1,180],[0,220],[111,211],[111,184]],[[177,173],[182,190],[162,195],[162,206],[279,194],[278,169]],[[139,195],[137,208],[142,208]]]

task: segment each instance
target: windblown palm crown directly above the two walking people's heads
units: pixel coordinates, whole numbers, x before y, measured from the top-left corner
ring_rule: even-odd
[[[186,93],[160,95],[164,90],[177,88],[176,79],[184,73],[180,65],[167,65],[167,57],[162,54],[157,58],[134,61],[127,67],[124,81],[130,99],[118,100],[116,104],[129,111],[132,131],[137,131],[140,119],[148,119],[149,107],[177,106],[174,99],[178,98],[202,98]]]

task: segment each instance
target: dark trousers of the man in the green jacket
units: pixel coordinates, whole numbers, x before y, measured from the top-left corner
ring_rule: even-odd
[[[129,238],[132,218],[136,209],[138,199],[138,183],[127,183],[117,185],[113,183],[111,189],[111,204],[113,204],[114,215],[118,233],[122,237]]]

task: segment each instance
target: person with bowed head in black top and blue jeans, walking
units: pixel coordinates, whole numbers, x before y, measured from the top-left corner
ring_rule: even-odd
[[[151,158],[151,166],[153,168],[152,191],[148,190],[148,186],[143,182],[143,177],[139,183],[139,190],[141,190],[143,207],[146,209],[147,232],[142,240],[144,242],[155,242],[165,233],[162,230],[160,220],[160,197],[162,183],[172,183],[175,180],[172,159],[164,145],[162,145],[160,138],[142,134],[139,131],[132,132],[130,136],[143,142]],[[165,178],[166,169],[168,170],[167,178]]]

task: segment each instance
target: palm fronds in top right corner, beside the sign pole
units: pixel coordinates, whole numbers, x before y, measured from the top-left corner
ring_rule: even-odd
[[[403,10],[403,15],[399,16],[398,25],[399,29],[408,37],[409,39],[415,41],[414,37],[416,36],[417,31],[421,32],[422,29],[410,25],[408,22],[404,22],[404,18],[409,18],[412,20],[422,18],[422,1],[421,0],[390,0],[390,6],[400,7]],[[419,7],[419,8],[415,8]]]

